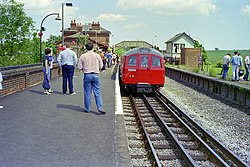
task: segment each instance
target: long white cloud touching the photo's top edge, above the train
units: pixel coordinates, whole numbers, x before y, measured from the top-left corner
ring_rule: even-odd
[[[119,0],[116,5],[124,9],[142,8],[156,14],[168,15],[209,15],[217,9],[212,0]]]

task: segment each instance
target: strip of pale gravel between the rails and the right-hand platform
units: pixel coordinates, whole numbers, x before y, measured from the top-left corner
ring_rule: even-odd
[[[161,89],[168,98],[216,139],[250,165],[250,110],[170,78]]]

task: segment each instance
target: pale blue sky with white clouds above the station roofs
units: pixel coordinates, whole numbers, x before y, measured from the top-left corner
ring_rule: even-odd
[[[111,32],[111,44],[124,40],[143,40],[160,49],[178,33],[185,32],[206,50],[250,49],[250,0],[16,0],[24,3],[26,14],[39,30],[42,19],[62,13],[64,28],[70,21],[99,22]],[[43,38],[60,35],[62,22],[56,16],[45,19]]]

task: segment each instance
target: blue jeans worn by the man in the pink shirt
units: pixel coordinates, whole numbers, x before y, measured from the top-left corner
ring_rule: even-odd
[[[103,110],[102,97],[100,91],[100,79],[98,74],[84,74],[83,83],[85,111],[90,111],[92,90],[94,92],[97,109]]]

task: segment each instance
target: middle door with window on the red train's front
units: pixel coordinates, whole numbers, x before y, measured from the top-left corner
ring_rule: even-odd
[[[149,55],[143,54],[139,56],[139,70],[138,70],[138,84],[149,84],[150,74],[149,74],[149,65],[150,65]]]

